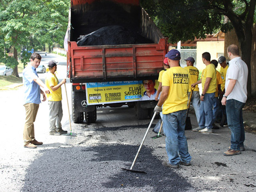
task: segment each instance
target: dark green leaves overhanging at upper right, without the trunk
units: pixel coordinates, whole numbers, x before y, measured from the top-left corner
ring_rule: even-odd
[[[233,17],[246,19],[244,12],[248,6],[245,0],[141,0],[140,3],[172,43],[204,38],[218,29],[227,32],[233,25],[224,23],[222,15],[232,10]]]

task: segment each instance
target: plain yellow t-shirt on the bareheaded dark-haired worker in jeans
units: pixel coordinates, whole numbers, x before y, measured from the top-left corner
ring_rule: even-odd
[[[206,93],[215,93],[216,86],[217,86],[217,80],[216,80],[216,68],[215,68],[214,64],[208,64],[202,73],[202,88],[203,88],[203,90],[204,90],[204,84],[205,84],[207,77],[210,77],[212,79],[210,81],[210,85],[209,85]]]

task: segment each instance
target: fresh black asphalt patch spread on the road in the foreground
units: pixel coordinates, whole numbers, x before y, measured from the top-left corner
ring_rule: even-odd
[[[122,144],[42,150],[26,170],[22,191],[196,191],[173,168],[163,167],[145,146],[134,169],[147,174],[120,169],[130,168],[137,150],[138,146]]]

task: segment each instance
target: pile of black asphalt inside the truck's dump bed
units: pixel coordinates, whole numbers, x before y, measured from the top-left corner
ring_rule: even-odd
[[[90,34],[80,36],[78,46],[90,45],[122,45],[122,44],[147,44],[151,40],[131,31],[123,26],[106,26]]]

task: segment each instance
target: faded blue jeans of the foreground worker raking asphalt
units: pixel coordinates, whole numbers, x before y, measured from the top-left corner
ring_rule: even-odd
[[[190,162],[188,142],[185,136],[186,110],[163,115],[163,130],[166,136],[166,152],[170,164]]]

